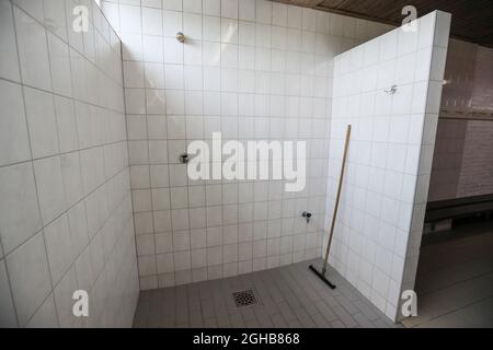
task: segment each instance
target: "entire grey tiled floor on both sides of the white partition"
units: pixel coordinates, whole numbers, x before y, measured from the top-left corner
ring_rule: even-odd
[[[486,226],[485,226],[486,225]],[[419,316],[406,327],[493,327],[493,230],[456,230],[421,249]],[[335,271],[329,289],[303,261],[276,269],[140,293],[134,327],[401,327]],[[253,288],[261,304],[237,307]]]

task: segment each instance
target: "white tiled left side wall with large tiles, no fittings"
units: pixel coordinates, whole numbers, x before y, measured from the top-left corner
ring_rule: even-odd
[[[0,327],[130,326],[121,42],[93,1],[0,0]],[[76,290],[89,317],[72,314]]]

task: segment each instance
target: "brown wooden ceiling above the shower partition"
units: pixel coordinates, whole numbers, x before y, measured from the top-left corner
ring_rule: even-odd
[[[493,47],[493,0],[274,0],[393,25],[401,10],[414,5],[417,16],[434,10],[452,14],[450,35]]]

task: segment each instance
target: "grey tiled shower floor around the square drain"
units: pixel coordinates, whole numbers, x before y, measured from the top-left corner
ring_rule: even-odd
[[[342,277],[329,289],[303,261],[276,269],[140,293],[134,327],[400,327]],[[254,288],[261,304],[237,307]]]

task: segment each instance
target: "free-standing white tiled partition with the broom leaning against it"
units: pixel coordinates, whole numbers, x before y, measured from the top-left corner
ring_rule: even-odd
[[[433,12],[416,32],[395,28],[334,63],[328,223],[353,130],[330,262],[393,320],[414,287],[449,26]]]

